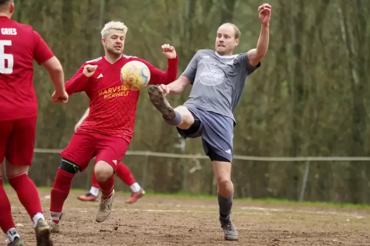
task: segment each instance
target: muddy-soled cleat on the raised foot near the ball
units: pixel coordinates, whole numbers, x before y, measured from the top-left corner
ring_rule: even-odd
[[[163,95],[162,91],[156,85],[149,85],[148,94],[150,101],[158,109],[163,117],[167,120],[173,121],[176,118],[176,113],[171,107],[168,100]]]

